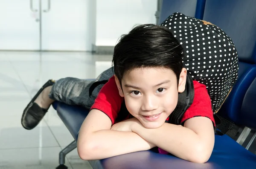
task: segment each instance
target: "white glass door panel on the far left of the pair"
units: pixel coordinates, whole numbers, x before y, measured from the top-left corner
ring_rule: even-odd
[[[39,0],[0,0],[0,50],[40,50]]]

